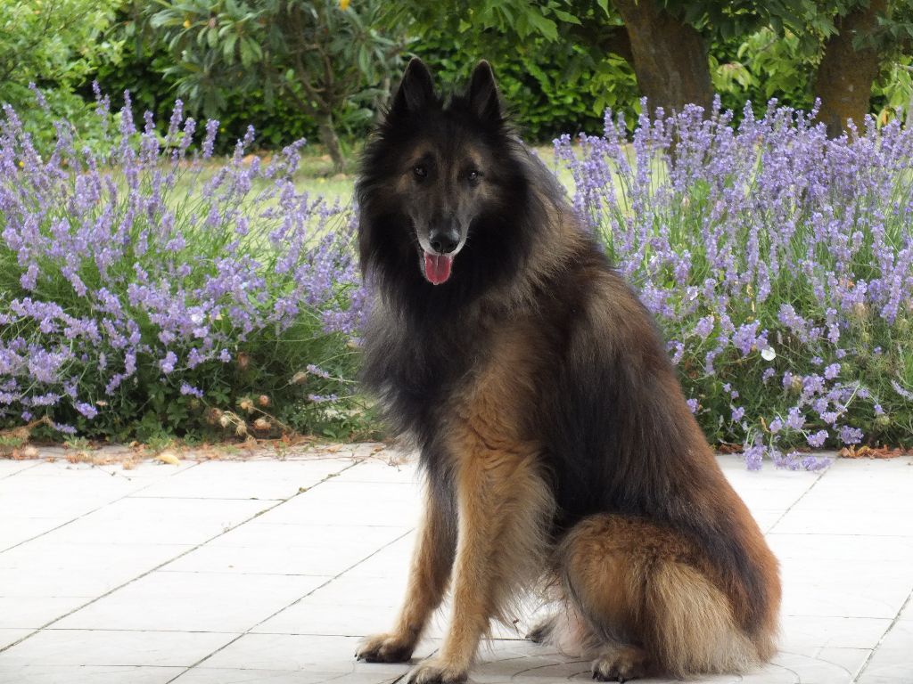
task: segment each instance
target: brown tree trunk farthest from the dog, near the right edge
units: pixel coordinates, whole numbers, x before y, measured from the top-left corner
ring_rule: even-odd
[[[881,56],[873,47],[856,50],[855,36],[870,36],[877,26],[877,17],[884,15],[887,0],[870,0],[834,22],[837,32],[824,43],[824,57],[815,78],[815,95],[821,98],[818,119],[827,126],[827,134],[835,138],[846,126],[847,119],[857,125],[866,119],[872,83],[878,76]]]

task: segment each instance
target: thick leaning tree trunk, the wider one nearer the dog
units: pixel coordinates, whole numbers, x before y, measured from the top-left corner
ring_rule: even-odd
[[[658,0],[615,0],[631,42],[637,85],[649,108],[666,114],[693,103],[708,111],[713,86],[704,38],[665,12]]]

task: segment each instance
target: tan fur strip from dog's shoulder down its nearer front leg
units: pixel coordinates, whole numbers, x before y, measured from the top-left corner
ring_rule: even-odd
[[[521,421],[513,413],[522,405],[518,395],[533,389],[519,358],[530,353],[530,345],[510,339],[519,335],[515,328],[495,347],[498,357],[488,360],[459,401],[448,430],[459,528],[453,617],[440,654],[428,665],[432,669],[465,672],[490,618],[509,623],[512,599],[535,583],[548,554],[551,490],[539,470],[539,447],[521,439]]]

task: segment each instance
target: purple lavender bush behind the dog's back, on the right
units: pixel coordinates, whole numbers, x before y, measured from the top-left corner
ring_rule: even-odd
[[[644,107],[646,110],[646,108]],[[711,440],[750,468],[913,446],[913,130],[828,140],[771,102],[556,141],[574,206],[656,314]]]

